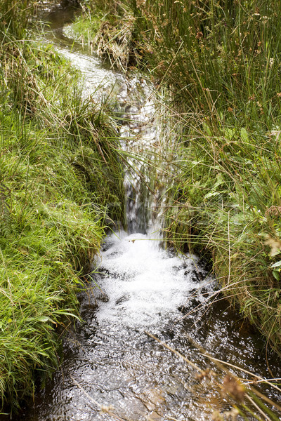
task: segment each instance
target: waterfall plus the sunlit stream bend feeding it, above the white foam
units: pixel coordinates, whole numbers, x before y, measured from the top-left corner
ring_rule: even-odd
[[[103,98],[112,100],[120,121],[122,147],[129,156],[125,175],[126,229],[129,234],[141,232],[161,239],[165,205],[163,168],[167,173],[166,156],[172,154],[172,147],[167,144],[162,118],[155,106],[155,87],[141,76],[127,78],[106,69],[98,58],[77,53],[73,44],[65,48],[62,40],[65,43],[65,38],[60,37],[58,51],[82,70],[84,98],[93,95],[96,102]]]

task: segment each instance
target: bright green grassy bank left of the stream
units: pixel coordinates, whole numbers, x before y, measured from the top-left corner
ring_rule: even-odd
[[[29,39],[30,4],[0,5],[0,400],[12,408],[58,366],[81,275],[124,208],[112,119]]]

